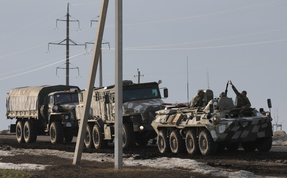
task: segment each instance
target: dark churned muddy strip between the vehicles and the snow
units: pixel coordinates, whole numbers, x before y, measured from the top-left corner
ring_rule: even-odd
[[[0,145],[11,146],[22,149],[51,149],[67,152],[75,152],[75,143],[52,144],[51,142],[37,141],[36,143],[19,144],[16,139],[1,138]],[[114,153],[114,145],[110,144],[107,149],[87,149],[84,153]],[[230,169],[231,171],[249,171],[255,175],[287,177],[287,152],[246,152],[237,150],[234,152],[227,149],[218,152],[214,156],[204,157],[202,155],[191,156],[187,152],[181,154],[160,153],[157,146],[147,145],[123,150],[124,157],[139,154],[135,159],[152,159],[156,157],[175,157],[181,159],[193,159],[206,163],[212,167]]]

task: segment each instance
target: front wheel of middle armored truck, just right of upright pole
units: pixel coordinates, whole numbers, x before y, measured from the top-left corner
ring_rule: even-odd
[[[123,149],[135,146],[135,134],[131,124],[123,124]]]

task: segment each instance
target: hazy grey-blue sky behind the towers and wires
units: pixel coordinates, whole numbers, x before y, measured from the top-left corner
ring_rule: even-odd
[[[67,3],[70,39],[94,42],[101,1],[3,1],[0,6],[0,130],[8,129],[6,96],[11,88],[65,85],[65,45],[48,43],[65,39]],[[198,89],[209,87],[216,97],[231,80],[247,91],[251,107],[278,109],[279,123],[286,107],[287,1],[136,1],[123,2],[123,80],[162,80],[167,103],[187,102]],[[115,75],[115,2],[110,1],[103,39],[103,85],[113,85]],[[103,42],[105,42],[103,41]],[[70,85],[85,89],[93,48],[70,46]],[[187,66],[188,57],[188,66]],[[59,62],[61,61],[61,62]],[[56,63],[57,62],[57,63]],[[62,67],[65,67],[64,65]],[[189,99],[187,97],[187,68]],[[98,86],[98,77],[96,84]],[[229,85],[228,97],[235,99]],[[277,117],[276,117],[277,118]],[[15,123],[15,120],[12,121]],[[275,122],[273,121],[273,124]],[[286,129],[283,122],[282,130]]]

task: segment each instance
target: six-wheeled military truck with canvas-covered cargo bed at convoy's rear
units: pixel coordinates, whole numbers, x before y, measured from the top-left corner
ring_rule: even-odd
[[[43,85],[13,88],[7,95],[7,119],[16,119],[10,132],[19,143],[36,142],[37,135],[50,135],[52,143],[71,142],[77,135],[75,105],[77,86]]]

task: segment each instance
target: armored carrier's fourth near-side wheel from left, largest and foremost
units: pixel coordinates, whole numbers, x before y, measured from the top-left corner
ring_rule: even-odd
[[[214,155],[216,152],[216,145],[210,132],[205,129],[199,134],[199,149],[203,156]]]

